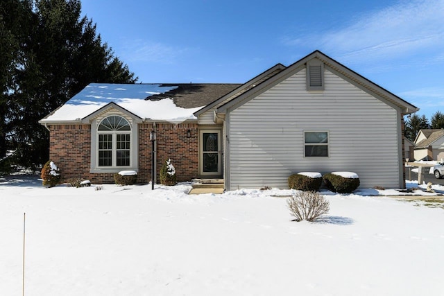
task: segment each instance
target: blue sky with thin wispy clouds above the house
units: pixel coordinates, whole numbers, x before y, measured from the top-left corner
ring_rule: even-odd
[[[318,49],[444,113],[444,0],[83,0],[139,82],[246,82]]]

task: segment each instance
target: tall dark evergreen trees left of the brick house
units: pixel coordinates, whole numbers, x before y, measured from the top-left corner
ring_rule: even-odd
[[[80,14],[80,0],[0,1],[0,166],[44,164],[38,121],[89,83],[137,81]]]

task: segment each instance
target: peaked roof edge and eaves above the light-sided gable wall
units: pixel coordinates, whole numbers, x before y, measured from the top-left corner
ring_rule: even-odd
[[[259,94],[262,94],[267,89],[270,89],[275,85],[278,85],[278,83],[289,78],[294,73],[297,73],[298,71],[300,71],[305,67],[305,64],[309,60],[312,60],[314,58],[321,60],[327,67],[329,67],[330,69],[332,69],[337,74],[339,74],[349,82],[353,83],[357,87],[363,89],[365,92],[372,94],[373,96],[381,99],[387,104],[399,107],[402,110],[402,114],[410,114],[419,110],[418,107],[411,105],[410,103],[404,101],[399,96],[396,96],[391,92],[388,92],[388,90],[384,89],[383,87],[380,87],[374,82],[371,82],[370,80],[364,78],[355,71],[348,69],[348,67],[345,67],[343,64],[336,62],[336,60],[333,60],[332,58],[325,55],[321,51],[316,50],[310,53],[309,55],[305,56],[304,58],[298,60],[297,62],[291,64],[286,69],[280,71],[279,73],[276,73],[274,76],[271,76],[270,78],[268,78],[268,80],[265,80],[261,82],[259,85],[248,89],[247,92],[244,92],[239,96],[232,98],[230,101],[226,101],[223,105],[217,108],[217,112],[224,113],[230,107],[236,107],[238,105],[246,103],[246,101],[249,101],[251,98],[258,96]]]

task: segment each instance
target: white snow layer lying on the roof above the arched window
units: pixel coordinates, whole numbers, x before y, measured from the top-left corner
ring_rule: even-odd
[[[91,83],[40,122],[80,121],[108,103],[115,103],[142,119],[152,121],[181,123],[187,119],[196,119],[193,113],[203,106],[179,107],[172,98],[146,100],[150,96],[164,94],[176,88],[161,84]]]

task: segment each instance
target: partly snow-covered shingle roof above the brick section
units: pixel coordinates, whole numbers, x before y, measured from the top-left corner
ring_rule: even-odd
[[[194,112],[240,84],[110,84],[91,83],[39,122],[85,123],[109,103],[144,121],[180,123],[196,120]]]

